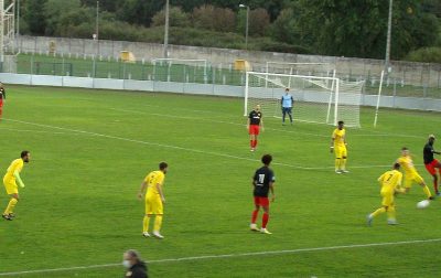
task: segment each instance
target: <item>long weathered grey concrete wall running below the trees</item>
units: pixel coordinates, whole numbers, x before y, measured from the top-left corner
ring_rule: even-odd
[[[17,47],[24,53],[49,53],[50,43],[55,43],[55,52],[63,54],[101,55],[118,57],[120,51],[130,51],[137,60],[152,60],[162,57],[163,45],[155,43],[123,42],[123,41],[94,41],[84,39],[20,36]],[[379,76],[384,61],[353,57],[333,57],[319,55],[300,55],[290,53],[226,50],[215,47],[200,47],[185,45],[170,45],[170,56],[174,58],[203,58],[215,66],[229,67],[235,60],[244,58],[251,63],[254,71],[263,71],[267,61],[291,63],[330,63],[338,76],[359,76],[367,79]],[[441,64],[392,62],[391,77],[399,78],[406,84],[441,87]]]

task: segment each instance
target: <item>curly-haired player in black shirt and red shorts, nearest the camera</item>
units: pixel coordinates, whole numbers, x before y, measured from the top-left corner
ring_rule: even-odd
[[[263,234],[271,234],[267,229],[267,224],[269,220],[269,200],[268,193],[271,191],[271,201],[275,201],[275,173],[269,169],[271,163],[271,154],[265,154],[261,158],[263,167],[256,170],[252,177],[254,196],[255,196],[255,210],[252,211],[251,225],[249,226],[251,231],[258,232],[259,228],[256,225],[257,216],[259,215],[260,207],[263,209],[262,226],[260,232]]]

